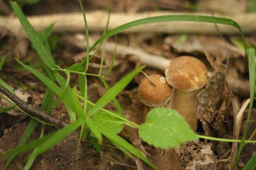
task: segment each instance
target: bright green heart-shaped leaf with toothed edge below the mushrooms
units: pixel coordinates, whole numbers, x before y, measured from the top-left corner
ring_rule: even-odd
[[[148,112],[146,123],[139,128],[139,136],[148,144],[164,149],[198,139],[176,110],[164,107],[157,107]]]

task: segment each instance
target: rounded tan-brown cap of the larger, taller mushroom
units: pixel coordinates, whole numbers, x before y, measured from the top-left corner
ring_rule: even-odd
[[[168,64],[165,75],[169,85],[184,92],[191,92],[204,86],[207,69],[197,58],[181,56]]]

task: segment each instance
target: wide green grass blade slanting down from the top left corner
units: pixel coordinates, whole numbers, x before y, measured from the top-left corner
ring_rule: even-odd
[[[54,68],[55,63],[52,59],[51,52],[47,49],[47,47],[45,47],[42,40],[40,39],[34,28],[31,26],[24,13],[22,13],[18,5],[12,1],[10,3],[14,13],[20,20],[22,27],[26,31],[27,36],[29,37],[39,56],[43,59],[49,69]]]

